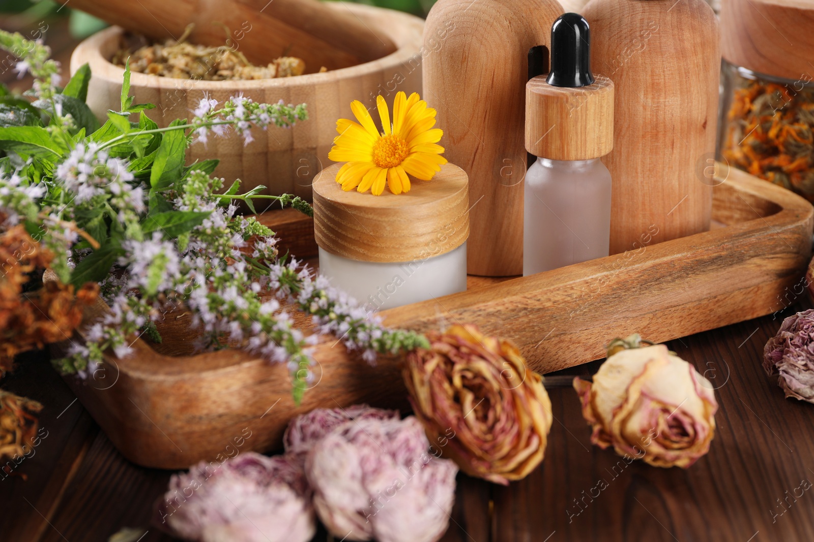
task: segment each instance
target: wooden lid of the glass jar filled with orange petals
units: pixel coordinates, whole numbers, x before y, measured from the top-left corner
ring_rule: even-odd
[[[723,0],[720,30],[729,63],[790,80],[814,76],[811,0]]]

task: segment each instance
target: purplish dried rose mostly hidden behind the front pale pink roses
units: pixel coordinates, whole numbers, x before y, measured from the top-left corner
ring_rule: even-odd
[[[399,419],[398,410],[374,409],[368,405],[352,405],[347,409],[314,409],[300,414],[288,423],[282,444],[286,453],[308,453],[309,449],[335,427],[352,419]]]

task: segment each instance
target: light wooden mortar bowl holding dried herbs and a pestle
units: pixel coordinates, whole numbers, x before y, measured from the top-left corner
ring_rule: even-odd
[[[308,104],[309,119],[294,128],[255,129],[255,141],[243,145],[243,138],[210,138],[207,145],[196,143],[187,151],[188,160],[220,158],[217,176],[231,182],[243,180],[243,189],[265,184],[269,193],[294,193],[311,199],[311,182],[329,166],[328,151],[336,136],[336,119],[350,118],[350,103],[360,100],[375,107],[381,93],[392,102],[396,92],[409,95],[421,92],[422,31],[424,21],[414,15],[379,7],[348,2],[330,2],[338,10],[351,10],[369,28],[383,33],[396,44],[392,54],[373,62],[345,67],[332,72],[267,80],[208,81],[173,79],[133,73],[130,91],[135,103],[153,103],[147,115],[160,127],[173,119],[191,119],[204,93],[219,102],[243,93],[255,102]],[[110,63],[124,31],[106,28],[82,41],[71,57],[71,72],[84,63],[92,73],[88,89],[88,106],[98,119],[107,119],[107,111],[119,111],[121,80],[124,68]],[[255,28],[260,32],[260,28]],[[239,47],[239,42],[238,42]],[[269,61],[277,56],[269,53]],[[319,67],[306,67],[318,70]],[[133,116],[135,119],[135,116]],[[227,184],[228,186],[228,184]]]

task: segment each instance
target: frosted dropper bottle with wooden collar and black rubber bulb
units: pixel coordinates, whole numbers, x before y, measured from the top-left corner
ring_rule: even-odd
[[[588,22],[561,15],[551,28],[551,72],[526,85],[523,275],[608,255],[613,83],[590,69]]]

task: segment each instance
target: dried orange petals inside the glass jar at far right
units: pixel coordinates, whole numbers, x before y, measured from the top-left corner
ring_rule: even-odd
[[[814,89],[742,79],[722,154],[751,175],[814,202]]]

